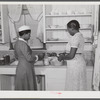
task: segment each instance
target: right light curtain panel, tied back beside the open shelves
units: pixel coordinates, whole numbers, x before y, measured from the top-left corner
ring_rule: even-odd
[[[37,39],[43,43],[43,5],[27,5],[33,20],[38,21]]]

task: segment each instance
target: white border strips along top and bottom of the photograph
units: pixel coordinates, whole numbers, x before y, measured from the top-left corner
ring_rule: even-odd
[[[1,3],[16,3],[16,2],[94,2],[99,3],[100,0],[0,0]],[[37,92],[37,93],[36,93]],[[72,92],[72,91],[71,91]],[[65,91],[0,91],[0,100],[100,100],[100,92],[83,91],[79,92],[65,92]],[[67,94],[68,93],[68,94]],[[48,99],[49,98],[49,99]]]

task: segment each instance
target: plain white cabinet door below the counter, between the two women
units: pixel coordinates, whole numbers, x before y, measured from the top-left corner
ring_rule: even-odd
[[[47,71],[46,90],[63,91],[65,89],[66,69],[51,68]]]

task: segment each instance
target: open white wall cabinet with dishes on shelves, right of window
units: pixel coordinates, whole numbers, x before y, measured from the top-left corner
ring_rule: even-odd
[[[78,20],[80,32],[85,43],[92,43],[94,27],[94,5],[45,5],[44,6],[44,43],[67,43],[69,33],[67,23]]]

